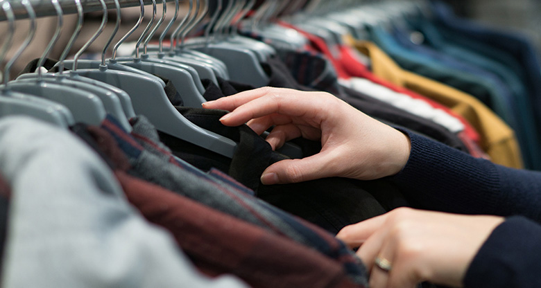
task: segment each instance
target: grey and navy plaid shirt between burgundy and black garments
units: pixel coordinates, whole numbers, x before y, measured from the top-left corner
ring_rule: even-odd
[[[139,119],[141,120],[141,119]],[[144,147],[151,147],[154,153],[162,153],[162,157],[171,159],[172,155],[168,150],[163,149],[161,144],[153,143],[153,136],[148,133],[148,129],[135,129],[135,135],[130,135],[123,131],[119,123],[114,118],[108,118],[102,124],[103,129],[108,131],[113,138],[118,142],[119,147],[126,152],[129,157],[143,155]],[[134,127],[137,128],[137,125]],[[137,131],[139,130],[139,131]],[[146,131],[146,133],[145,133]],[[144,133],[142,134],[137,134]],[[149,138],[150,137],[150,138]],[[138,139],[139,141],[135,140]],[[141,145],[141,143],[144,143]],[[159,149],[158,149],[159,148]],[[136,153],[139,152],[139,153]],[[133,161],[133,159],[131,159]],[[336,260],[343,265],[345,273],[352,279],[353,282],[366,285],[367,272],[363,264],[343,242],[323,231],[323,229],[304,221],[298,217],[294,217],[284,211],[267,204],[261,199],[253,197],[253,191],[243,187],[237,181],[227,177],[223,172],[212,170],[208,174],[202,172],[194,172],[195,168],[182,163],[175,159],[174,165],[169,161],[162,161],[163,165],[155,167],[170,169],[175,177],[180,177],[184,174],[184,180],[178,182],[174,192],[178,192],[185,197],[189,197],[202,204],[211,206],[223,213],[227,213],[239,219],[242,219],[251,224],[255,224],[266,231],[288,237],[289,239],[309,246],[323,255]],[[140,163],[139,163],[140,164]],[[156,180],[156,179],[154,179]],[[160,180],[160,179],[158,179]],[[197,182],[198,191],[187,191],[182,189],[182,186],[188,186],[187,181]],[[155,183],[156,181],[154,181]],[[159,181],[157,181],[159,182]],[[160,184],[160,183],[158,183]],[[169,188],[169,187],[165,187]]]

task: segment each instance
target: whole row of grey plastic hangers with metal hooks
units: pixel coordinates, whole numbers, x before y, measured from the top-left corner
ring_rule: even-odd
[[[35,73],[24,74],[16,80],[8,81],[12,64],[30,45],[35,34],[34,8],[31,1],[21,1],[28,18],[31,19],[31,27],[24,43],[4,69],[3,85],[0,87],[0,116],[26,114],[60,127],[69,127],[76,122],[100,125],[106,114],[112,114],[119,120],[122,127],[130,132],[131,126],[128,119],[136,114],[142,114],[160,131],[230,158],[233,156],[237,143],[198,127],[184,118],[167,98],[163,80],[155,75],[169,78],[187,107],[201,107],[205,102],[201,78],[217,83],[216,79],[220,77],[251,84],[254,87],[264,87],[268,84],[268,75],[262,69],[260,62],[265,62],[268,57],[275,55],[276,51],[264,42],[239,35],[239,26],[260,33],[289,48],[297,49],[306,44],[307,39],[293,29],[275,24],[279,17],[295,15],[289,17],[288,20],[300,28],[311,33],[323,33],[329,42],[340,41],[338,34],[345,33],[344,28],[350,28],[356,32],[356,29],[360,27],[355,16],[346,17],[353,15],[353,9],[348,12],[341,8],[364,2],[351,0],[264,1],[257,10],[252,11],[256,6],[256,0],[230,0],[225,5],[223,0],[217,0],[214,2],[216,7],[207,23],[203,37],[187,39],[187,35],[209,14],[209,1],[203,3],[204,1],[189,0],[189,12],[171,33],[169,49],[164,49],[164,39],[178,19],[179,1],[175,0],[173,19],[161,33],[158,45],[151,46],[149,43],[157,29],[163,24],[167,8],[162,0],[162,17],[153,28],[157,3],[152,0],[153,17],[137,40],[134,54],[130,57],[117,57],[119,46],[142,24],[146,11],[144,1],[139,0],[141,12],[137,23],[113,46],[112,57],[106,59],[106,52],[121,22],[121,5],[119,0],[114,0],[116,24],[112,35],[103,47],[101,60],[80,60],[80,56],[103,32],[108,22],[108,8],[105,0],[96,1],[99,1],[103,10],[101,26],[75,54],[73,60],[66,58],[83,27],[83,6],[80,0],[74,0],[78,24],[57,64],[58,73],[43,73],[42,69],[38,69]],[[44,64],[44,60],[51,53],[62,30],[62,7],[58,0],[51,0],[51,3],[58,17],[57,27],[37,67]],[[0,49],[1,62],[12,44],[15,33],[15,15],[10,1],[3,0],[0,4],[9,24],[8,35]],[[248,18],[250,12],[252,16]],[[341,15],[333,12],[341,13]],[[370,19],[370,16],[366,19]],[[143,45],[142,53],[141,44]],[[65,68],[70,70],[65,71]],[[290,151],[291,156],[300,156],[297,148],[289,148],[294,150]]]

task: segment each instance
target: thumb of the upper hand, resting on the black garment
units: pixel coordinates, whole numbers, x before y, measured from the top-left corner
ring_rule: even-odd
[[[336,170],[325,154],[319,153],[304,159],[282,160],[269,166],[261,175],[265,185],[298,183],[314,179],[333,177]]]

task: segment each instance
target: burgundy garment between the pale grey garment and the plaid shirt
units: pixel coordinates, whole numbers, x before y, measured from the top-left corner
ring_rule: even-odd
[[[126,197],[149,222],[173,233],[202,271],[232,273],[256,288],[359,287],[341,264],[160,186],[116,172]]]

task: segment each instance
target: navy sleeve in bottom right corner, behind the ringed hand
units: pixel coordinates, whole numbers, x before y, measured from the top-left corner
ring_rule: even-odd
[[[481,246],[464,278],[465,288],[541,287],[541,226],[510,217]]]

